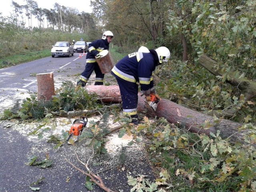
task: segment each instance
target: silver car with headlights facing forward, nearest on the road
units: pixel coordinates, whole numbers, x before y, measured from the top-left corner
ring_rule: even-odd
[[[70,57],[74,55],[74,49],[70,42],[60,41],[56,42],[56,44],[52,46],[51,54],[52,57],[56,55]]]

